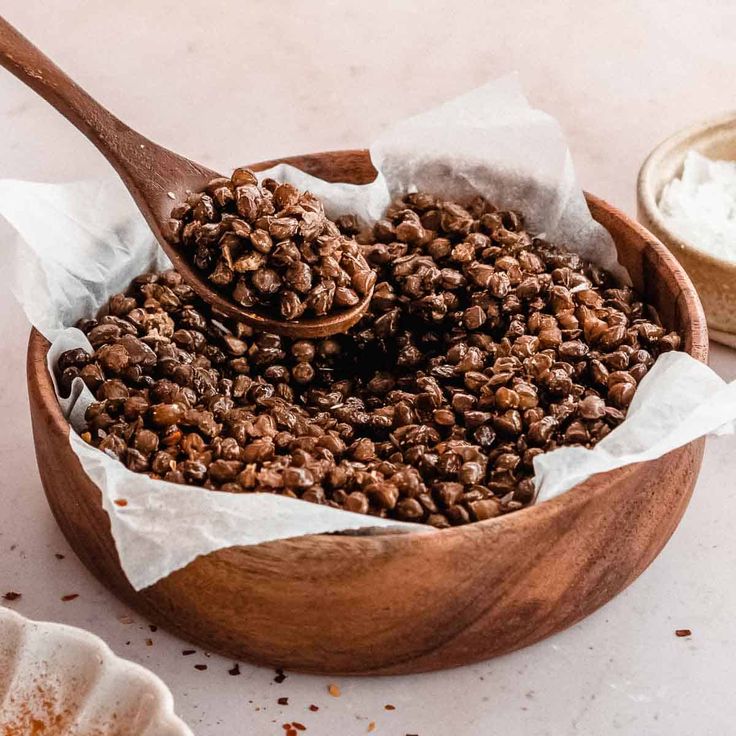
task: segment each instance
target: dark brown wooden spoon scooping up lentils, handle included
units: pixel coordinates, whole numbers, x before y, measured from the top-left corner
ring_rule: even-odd
[[[175,202],[183,201],[189,191],[202,191],[208,181],[220,174],[131,130],[1,17],[0,64],[41,95],[97,146],[120,175],[176,270],[213,307],[260,331],[296,338],[326,337],[345,332],[363,316],[372,291],[349,309],[293,322],[244,309],[215,291],[163,233]]]

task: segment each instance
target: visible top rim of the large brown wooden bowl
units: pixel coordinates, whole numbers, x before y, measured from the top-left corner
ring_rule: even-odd
[[[340,156],[367,156],[367,150],[345,150],[345,151],[326,151],[308,154],[310,158],[318,157],[340,157]],[[292,163],[295,162],[299,157],[287,157],[283,159],[275,159],[273,161],[261,162],[254,164],[253,169],[259,170],[264,168],[270,168],[276,163]],[[684,292],[689,292],[687,295],[691,298],[685,300],[686,302],[686,313],[687,319],[690,322],[692,329],[691,345],[689,354],[697,360],[707,363],[708,358],[708,331],[703,315],[702,306],[698,299],[695,288],[690,281],[685,270],[678,263],[675,257],[669,252],[669,250],[646,228],[632,220],[630,217],[625,215],[619,209],[608,204],[604,200],[592,195],[588,192],[584,192],[586,202],[591,208],[591,214],[595,218],[595,211],[605,212],[614,219],[621,220],[633,233],[644,241],[645,245],[655,251],[657,255],[657,263],[659,269],[669,269],[675,280],[678,282]],[[48,411],[49,431],[61,434],[67,438],[70,430],[70,425],[62,414],[61,407],[56,399],[54,392],[53,383],[46,365],[46,354],[48,351],[49,343],[46,338],[41,335],[35,328],[31,329],[29,342],[28,342],[28,381],[29,383],[35,382],[38,388],[38,394],[43,399],[45,408]],[[692,444],[692,443],[689,443]],[[72,452],[71,446],[69,451]],[[78,461],[78,458],[75,459]],[[544,501],[540,504],[534,504],[526,508],[520,509],[517,512],[511,514],[505,514],[493,519],[485,521],[478,521],[472,524],[466,524],[463,526],[451,527],[449,529],[436,530],[429,534],[412,534],[401,531],[393,530],[378,530],[377,534],[361,535],[361,534],[310,534],[301,537],[289,537],[285,539],[277,539],[270,542],[264,542],[262,544],[273,545],[283,543],[294,543],[306,542],[308,544],[314,543],[319,545],[328,545],[325,549],[335,548],[346,548],[356,547],[363,544],[374,544],[380,540],[381,544],[393,544],[393,545],[405,545],[405,544],[422,544],[423,540],[437,539],[438,535],[441,535],[442,540],[448,544],[451,544],[453,540],[465,537],[468,535],[475,535],[481,533],[514,533],[520,532],[523,528],[529,526],[535,526],[545,518],[559,516],[566,513],[568,510],[572,510],[575,506],[591,501],[595,497],[604,494],[607,490],[608,484],[615,481],[623,481],[627,476],[635,475],[640,465],[645,463],[636,463],[627,465],[616,470],[607,471],[605,473],[599,473],[594,475],[587,480],[579,483],[578,485],[571,488],[569,491],[556,496],[555,498]],[[81,468],[81,464],[80,464]],[[94,485],[91,483],[91,485]],[[96,488],[96,486],[95,486]],[[212,493],[213,491],[207,491]],[[421,525],[418,525],[421,526]],[[260,545],[256,545],[260,546]],[[247,550],[248,546],[234,545],[228,548],[230,550],[242,549]],[[212,554],[217,554],[224,550],[216,550]]]

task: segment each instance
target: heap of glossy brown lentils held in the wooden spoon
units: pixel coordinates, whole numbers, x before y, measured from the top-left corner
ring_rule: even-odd
[[[277,319],[354,307],[376,280],[317,197],[273,179],[259,185],[248,169],[190,194],[174,208],[167,236],[213,286]]]

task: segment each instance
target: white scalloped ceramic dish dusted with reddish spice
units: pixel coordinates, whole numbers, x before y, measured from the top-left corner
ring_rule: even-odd
[[[93,634],[0,607],[0,736],[193,736],[173,703]]]

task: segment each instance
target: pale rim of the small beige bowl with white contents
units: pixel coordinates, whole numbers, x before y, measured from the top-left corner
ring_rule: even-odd
[[[647,224],[653,227],[657,237],[686,251],[704,264],[720,269],[724,272],[723,277],[729,279],[736,277],[736,263],[718,258],[698,247],[696,243],[672,232],[657,205],[655,181],[662,164],[683,144],[692,145],[698,141],[708,140],[716,137],[721,131],[730,129],[736,129],[736,111],[678,130],[652,149],[639,169],[636,182],[639,212],[646,218]]]

